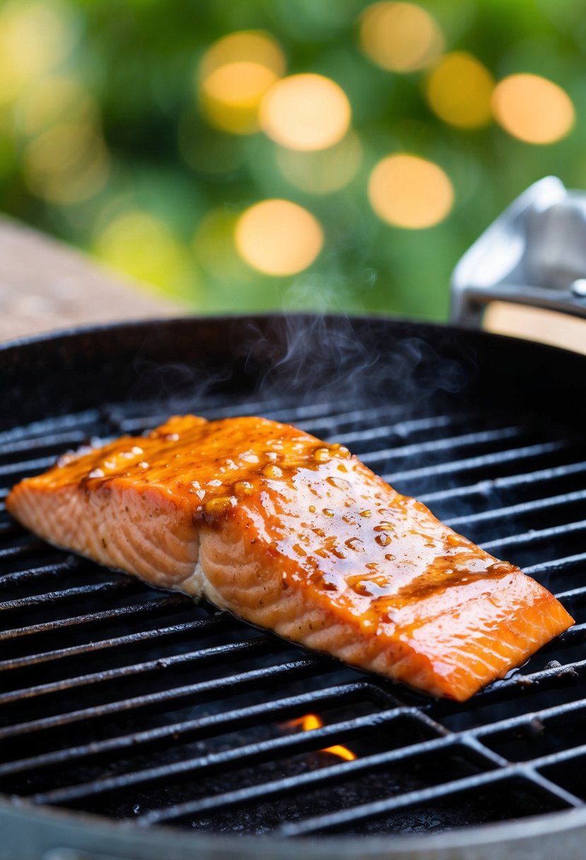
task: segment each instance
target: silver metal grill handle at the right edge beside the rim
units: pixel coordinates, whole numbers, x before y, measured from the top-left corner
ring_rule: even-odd
[[[452,274],[452,319],[479,328],[494,300],[586,317],[586,192],[547,176],[467,250]]]

